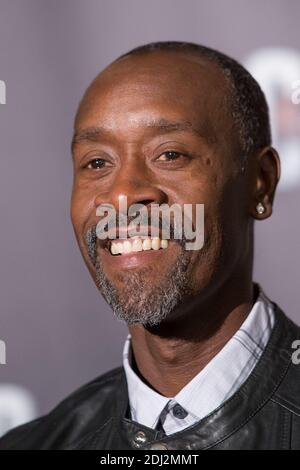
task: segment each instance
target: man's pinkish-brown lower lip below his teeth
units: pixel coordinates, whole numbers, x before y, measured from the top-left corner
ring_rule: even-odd
[[[104,263],[109,264],[112,268],[134,269],[156,263],[169,252],[172,244],[169,242],[168,248],[160,248],[159,250],[131,251],[122,255],[112,255],[108,250],[100,248],[99,256]]]

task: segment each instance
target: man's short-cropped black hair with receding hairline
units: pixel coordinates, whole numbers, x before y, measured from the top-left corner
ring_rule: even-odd
[[[216,63],[229,84],[230,114],[236,126],[242,157],[271,145],[268,104],[257,81],[237,60],[209,47],[191,42],[162,41],[136,47],[116,61],[156,51],[194,53]]]

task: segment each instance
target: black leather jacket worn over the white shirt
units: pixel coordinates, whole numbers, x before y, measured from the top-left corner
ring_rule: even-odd
[[[80,388],[48,415],[7,433],[0,450],[300,449],[300,365],[291,360],[300,328],[274,306],[274,330],[250,377],[197,424],[162,438],[132,421],[120,367]]]

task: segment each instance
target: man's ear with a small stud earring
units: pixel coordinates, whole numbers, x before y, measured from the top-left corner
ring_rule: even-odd
[[[255,157],[254,157],[255,159]],[[280,159],[273,147],[265,147],[256,155],[251,215],[267,219],[272,214],[273,200],[280,178]],[[261,209],[261,211],[259,211]]]

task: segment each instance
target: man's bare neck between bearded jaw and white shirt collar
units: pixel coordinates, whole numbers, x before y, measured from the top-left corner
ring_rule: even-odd
[[[224,287],[205,298],[190,299],[154,328],[130,326],[133,367],[151,388],[174,397],[224,347],[255,302],[252,282]],[[177,313],[177,312],[176,312]]]

